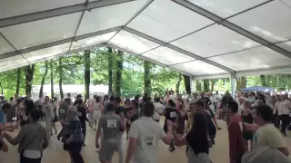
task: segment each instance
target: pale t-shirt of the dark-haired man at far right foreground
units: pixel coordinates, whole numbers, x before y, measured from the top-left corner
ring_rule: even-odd
[[[254,147],[285,148],[286,141],[274,124],[266,124],[256,130],[253,137]]]

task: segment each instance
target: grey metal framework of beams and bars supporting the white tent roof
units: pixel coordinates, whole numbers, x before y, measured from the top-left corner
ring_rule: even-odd
[[[212,13],[206,11],[205,9],[203,9],[203,8],[197,6],[197,5],[194,5],[194,4],[190,3],[190,2],[187,2],[186,0],[172,0],[177,5],[182,5],[182,6],[186,7],[187,9],[190,9],[191,11],[193,11],[193,12],[195,12],[197,14],[201,14],[201,15],[205,16],[206,18],[208,18],[210,20],[213,20],[215,23],[208,24],[203,28],[200,28],[200,29],[198,29],[198,30],[196,30],[196,31],[194,31],[194,32],[192,32],[190,34],[186,34],[184,36],[176,38],[175,40],[167,42],[167,43],[163,42],[163,41],[161,41],[161,40],[159,40],[159,39],[157,39],[155,37],[149,36],[147,34],[143,34],[141,32],[138,32],[138,31],[134,30],[134,29],[126,27],[127,24],[129,24],[131,21],[133,21],[136,16],[141,14],[146,9],[146,7],[148,5],[151,5],[155,0],[148,0],[146,5],[141,7],[140,10],[138,10],[136,12],[136,14],[134,14],[122,26],[117,26],[117,27],[114,27],[114,28],[105,29],[105,30],[94,32],[94,33],[91,33],[91,34],[83,34],[83,35],[76,36],[78,28],[79,28],[79,26],[80,26],[80,24],[82,22],[82,18],[83,18],[83,15],[84,15],[85,11],[91,11],[92,9],[95,9],[95,8],[105,7],[105,6],[109,6],[109,5],[118,5],[118,4],[123,4],[123,3],[127,3],[127,2],[133,2],[133,1],[136,1],[136,0],[99,0],[99,1],[95,1],[95,2],[88,2],[88,0],[86,0],[85,4],[65,6],[65,7],[61,7],[61,8],[55,8],[55,9],[52,9],[52,10],[36,12],[36,13],[33,13],[33,14],[17,15],[17,16],[14,16],[14,17],[8,17],[8,18],[0,19],[0,28],[3,28],[3,27],[11,26],[11,25],[24,24],[24,23],[33,22],[33,21],[37,21],[37,20],[42,20],[42,19],[55,17],[55,16],[60,16],[60,15],[64,15],[64,14],[73,14],[73,13],[83,12],[81,14],[79,22],[78,22],[78,24],[77,24],[77,26],[75,28],[74,36],[71,37],[71,38],[64,39],[64,40],[59,40],[59,41],[55,41],[55,42],[52,42],[52,43],[44,43],[44,44],[41,44],[41,45],[36,45],[36,46],[33,46],[33,47],[17,50],[15,48],[15,46],[11,42],[9,42],[9,40],[7,40],[5,38],[5,35],[0,34],[0,36],[2,35],[3,38],[5,39],[5,41],[7,43],[9,43],[15,49],[14,52],[1,54],[0,55],[0,59],[5,59],[7,57],[11,57],[11,56],[15,56],[15,55],[22,55],[23,53],[29,53],[29,52],[45,49],[45,48],[52,47],[52,46],[59,45],[59,44],[63,44],[63,43],[71,43],[70,44],[70,48],[69,48],[67,53],[78,52],[78,51],[81,51],[81,49],[78,49],[78,50],[75,50],[75,51],[71,52],[71,48],[72,48],[72,45],[73,45],[74,42],[77,42],[78,40],[82,40],[82,39],[85,39],[85,38],[101,35],[101,34],[108,34],[108,33],[116,32],[113,37],[111,37],[105,43],[101,43],[101,45],[107,45],[107,46],[115,47],[116,49],[125,51],[127,53],[134,54],[139,58],[143,58],[146,61],[155,62],[158,65],[166,66],[166,67],[168,67],[170,69],[173,69],[175,71],[182,72],[183,74],[192,76],[195,79],[213,79],[213,78],[217,78],[217,77],[229,77],[229,76],[236,77],[236,75],[239,76],[241,74],[246,74],[248,72],[266,72],[266,71],[273,70],[273,69],[276,69],[276,71],[278,71],[278,70],[291,70],[291,66],[287,65],[287,66],[281,66],[279,68],[271,67],[269,69],[234,71],[234,70],[232,70],[232,69],[230,69],[230,68],[228,68],[228,67],[226,67],[224,65],[221,65],[219,63],[212,62],[212,61],[208,60],[207,57],[206,58],[201,57],[199,55],[196,55],[195,53],[187,52],[187,51],[185,51],[185,50],[183,50],[181,48],[178,48],[178,47],[170,44],[171,42],[174,42],[174,41],[176,41],[178,39],[186,37],[187,35],[194,34],[194,33],[198,32],[198,31],[204,30],[207,27],[212,26],[214,24],[222,24],[222,25],[226,26],[226,28],[228,28],[228,29],[230,29],[232,31],[235,31],[237,34],[242,34],[242,35],[246,36],[247,38],[255,41],[256,43],[260,43],[263,46],[266,46],[267,48],[270,48],[270,49],[274,50],[277,53],[281,53],[281,54],[285,55],[286,57],[291,58],[291,53],[287,52],[283,48],[280,48],[279,46],[276,45],[276,43],[270,43],[270,42],[266,41],[265,39],[257,36],[256,34],[252,34],[252,33],[248,32],[248,31],[246,31],[245,29],[237,26],[236,24],[232,24],[232,23],[227,21],[227,19],[230,18],[230,17],[236,16],[238,14],[243,14],[246,11],[252,10],[252,9],[254,9],[254,8],[260,6],[260,5],[265,5],[265,4],[267,4],[269,2],[272,2],[274,0],[266,0],[265,2],[263,2],[263,3],[259,4],[259,5],[252,6],[252,7],[247,8],[246,10],[244,10],[242,12],[230,15],[230,16],[228,16],[226,18],[222,18],[222,17],[217,16],[216,14],[212,14]],[[141,55],[142,53],[136,54],[136,53],[128,52],[128,51],[126,51],[125,49],[123,49],[121,47],[116,47],[115,45],[110,44],[109,43],[110,40],[113,39],[115,37],[115,35],[118,34],[122,30],[125,30],[128,33],[138,35],[138,36],[143,37],[143,38],[145,38],[145,39],[147,39],[147,40],[149,40],[151,42],[159,44],[159,46],[157,46],[157,47],[155,47],[153,49],[150,49],[147,52],[155,50],[158,47],[165,46],[165,47],[167,47],[169,49],[172,49],[172,50],[174,50],[174,51],[176,51],[178,53],[184,53],[184,54],[186,54],[188,56],[193,57],[194,58],[193,61],[199,60],[199,61],[202,61],[202,62],[206,62],[206,63],[211,64],[213,66],[216,66],[216,67],[218,67],[218,68],[220,68],[222,70],[225,70],[226,72],[229,72],[229,73],[193,76],[192,74],[177,70],[176,68],[172,67],[173,65],[182,64],[182,63],[185,63],[185,62],[179,62],[179,63],[172,64],[172,65],[165,65],[165,64],[163,64],[161,62],[156,62],[156,61],[153,61],[153,60],[151,60],[149,58],[146,58],[146,57],[142,56]],[[100,43],[95,45],[95,46],[99,46],[99,45],[100,45]],[[93,47],[93,46],[90,46],[90,47]],[[235,52],[233,52],[233,53],[235,53]],[[57,54],[54,57],[59,56],[59,55],[64,55],[64,53],[63,54]],[[45,59],[44,59],[44,61],[45,61]]]

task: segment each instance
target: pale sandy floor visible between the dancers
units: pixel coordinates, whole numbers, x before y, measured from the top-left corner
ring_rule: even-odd
[[[162,120],[163,121],[163,120]],[[222,130],[217,131],[216,134],[216,145],[210,150],[210,157],[214,163],[227,163],[228,162],[228,141],[227,141],[227,130],[226,122],[218,120],[218,124]],[[162,125],[162,124],[161,124]],[[60,126],[59,124],[57,125]],[[59,129],[60,130],[60,129]],[[14,133],[15,135],[15,133]],[[289,137],[291,137],[291,132],[289,132]],[[286,138],[286,143],[291,149],[291,138]],[[95,149],[95,131],[93,129],[87,129],[87,136],[85,139],[85,148],[82,151],[82,155],[85,158],[86,163],[97,163],[98,153]],[[126,152],[127,141],[124,135],[123,147]],[[0,153],[0,163],[17,163],[18,154],[17,147],[9,147],[8,153]],[[44,152],[44,163],[69,163],[70,158],[68,153],[62,149],[62,144],[56,139],[55,136],[50,140],[49,147],[45,149]],[[158,147],[158,162],[159,163],[169,163],[169,162],[186,162],[186,147],[176,148],[175,152],[169,152],[168,146],[163,142],[160,142]],[[118,162],[118,155],[115,153],[113,162]]]

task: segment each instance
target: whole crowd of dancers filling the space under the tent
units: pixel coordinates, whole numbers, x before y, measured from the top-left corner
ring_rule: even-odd
[[[221,129],[216,119],[226,120],[230,163],[291,162],[283,137],[290,125],[287,94],[246,92],[233,98],[228,91],[224,95],[216,91],[177,97],[174,91],[166,91],[165,97],[145,94],[132,100],[95,95],[83,101],[78,95],[73,102],[70,94],[64,101],[45,96],[34,102],[17,95],[9,101],[0,100],[0,149],[8,150],[4,139],[18,144],[21,163],[41,162],[53,129],[71,162],[84,163],[81,150],[85,147],[86,122],[95,130],[95,148],[102,163],[112,162],[115,152],[119,163],[156,163],[160,140],[171,152],[176,146],[186,146],[189,163],[215,163],[209,158],[209,149],[216,144],[216,130]],[[42,119],[45,125],[39,122]],[[164,126],[160,120],[165,120]],[[58,121],[62,125],[59,132],[55,128]],[[276,129],[280,127],[281,133]],[[19,128],[12,137],[9,132]],[[125,156],[124,132],[128,140]]]

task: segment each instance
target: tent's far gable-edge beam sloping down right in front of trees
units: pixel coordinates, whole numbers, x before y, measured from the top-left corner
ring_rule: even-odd
[[[128,54],[132,54],[132,55],[136,56],[137,58],[140,58],[140,59],[146,60],[146,61],[148,61],[148,62],[154,62],[154,63],[156,63],[156,64],[159,65],[159,66],[162,66],[162,67],[166,67],[166,68],[172,69],[172,70],[174,70],[174,71],[176,71],[176,72],[180,72],[180,73],[185,74],[185,75],[187,75],[187,76],[190,76],[190,77],[193,76],[192,74],[190,74],[190,73],[188,73],[188,72],[183,72],[183,71],[178,70],[178,69],[176,69],[176,68],[168,67],[166,64],[164,64],[164,63],[162,63],[162,62],[156,62],[155,60],[149,59],[149,58],[147,58],[147,57],[145,57],[145,56],[142,56],[142,55],[139,55],[139,54],[137,54],[137,53],[130,52],[130,51],[128,51],[128,50],[125,50],[125,49],[123,49],[123,48],[121,48],[121,47],[118,47],[118,46],[115,46],[115,45],[113,45],[113,44],[105,43],[105,46],[112,47],[112,48],[114,48],[114,49],[120,50],[120,51],[125,52],[125,53],[128,53]]]

